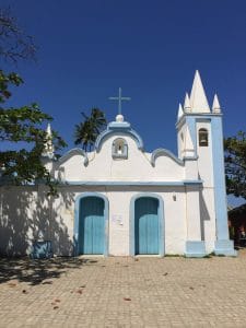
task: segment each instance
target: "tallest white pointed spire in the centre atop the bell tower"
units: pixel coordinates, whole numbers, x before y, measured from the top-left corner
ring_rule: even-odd
[[[190,93],[190,105],[192,113],[210,113],[209,103],[198,70],[194,78],[192,90]]]

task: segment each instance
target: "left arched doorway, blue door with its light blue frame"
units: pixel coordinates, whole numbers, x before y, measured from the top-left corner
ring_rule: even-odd
[[[108,201],[98,194],[80,195],[75,204],[75,255],[107,255]]]

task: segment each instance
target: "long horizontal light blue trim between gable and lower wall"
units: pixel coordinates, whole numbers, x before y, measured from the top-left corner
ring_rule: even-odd
[[[153,186],[153,187],[172,187],[172,186],[200,186],[202,180],[180,180],[180,181],[65,181],[70,186]],[[62,185],[61,185],[62,186]]]

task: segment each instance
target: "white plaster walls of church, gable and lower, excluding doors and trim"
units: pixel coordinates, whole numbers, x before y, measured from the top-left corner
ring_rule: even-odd
[[[208,154],[199,150],[200,161],[187,161],[181,165],[164,152],[153,165],[151,154],[139,150],[136,141],[125,136],[128,159],[114,160],[112,144],[116,138],[107,138],[98,153],[89,153],[87,165],[84,165],[82,154],[73,154],[60,165],[56,164],[55,176],[63,183],[75,184],[61,186],[58,198],[48,198],[47,189],[42,185],[0,187],[0,254],[23,255],[30,251],[35,239],[48,239],[52,241],[56,255],[72,255],[74,202],[82,192],[101,192],[109,201],[108,254],[112,256],[130,255],[130,202],[132,197],[143,192],[163,199],[165,254],[183,255],[187,241],[200,239],[206,241],[207,251],[212,251],[215,218],[213,179],[208,173],[212,167],[210,160],[206,160]],[[204,188],[197,185],[191,190],[181,186],[185,179],[198,179],[198,173],[204,178]],[[86,185],[86,181],[94,183],[94,186]],[[103,181],[151,184],[96,186]],[[172,181],[179,183],[179,186],[168,186]],[[157,183],[166,185],[159,186]]]

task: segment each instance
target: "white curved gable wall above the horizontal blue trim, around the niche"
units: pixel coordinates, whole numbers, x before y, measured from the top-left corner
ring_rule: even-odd
[[[151,154],[140,151],[134,140],[124,137],[128,143],[128,160],[112,157],[112,143],[115,137],[108,138],[98,153],[89,153],[89,165],[83,165],[83,156],[74,155],[60,165],[65,169],[65,179],[78,180],[181,180],[184,167],[164,155],[156,159],[155,167],[150,163]],[[57,173],[56,173],[57,176]]]

